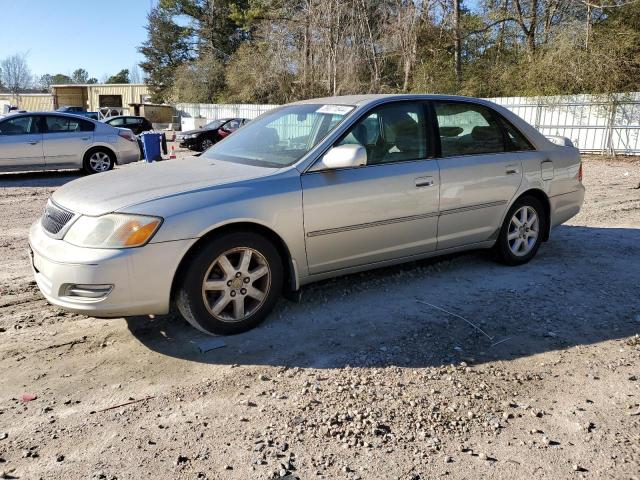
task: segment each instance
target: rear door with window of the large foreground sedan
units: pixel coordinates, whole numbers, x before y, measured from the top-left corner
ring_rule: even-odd
[[[432,103],[440,140],[438,250],[490,240],[522,181],[500,119],[471,102]]]

